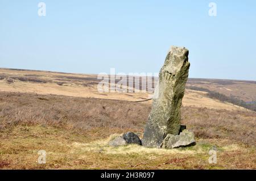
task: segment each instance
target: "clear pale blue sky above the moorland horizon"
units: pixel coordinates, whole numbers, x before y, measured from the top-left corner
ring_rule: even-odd
[[[2,68],[155,73],[171,45],[189,49],[189,77],[255,81],[256,1],[0,0]]]

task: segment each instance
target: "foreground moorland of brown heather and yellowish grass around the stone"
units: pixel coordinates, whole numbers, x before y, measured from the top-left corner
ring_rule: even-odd
[[[0,93],[0,169],[256,169],[256,113],[183,107],[197,145],[174,150],[108,141],[143,132],[151,106],[121,100]],[[215,145],[217,164],[208,163]],[[36,161],[47,151],[46,165]]]

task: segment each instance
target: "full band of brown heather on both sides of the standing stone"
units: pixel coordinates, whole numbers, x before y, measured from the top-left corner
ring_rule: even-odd
[[[0,132],[15,125],[47,125],[79,131],[105,128],[143,132],[150,104],[0,92]],[[182,124],[197,138],[221,138],[256,145],[256,112],[183,107]]]

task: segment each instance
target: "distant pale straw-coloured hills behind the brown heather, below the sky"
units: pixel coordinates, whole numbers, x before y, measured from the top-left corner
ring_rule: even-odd
[[[127,79],[133,81],[133,77],[127,77]],[[158,78],[155,77],[152,80],[156,83]],[[149,98],[148,92],[125,92],[122,94],[118,92],[98,92],[97,85],[99,82],[100,80],[97,79],[96,74],[0,68],[0,91],[129,101],[146,100]],[[115,83],[117,82],[119,80],[115,81]],[[136,85],[136,83],[133,86],[141,89],[146,87],[142,84]],[[209,98],[208,92],[219,92],[225,96],[232,95],[234,98],[245,102],[254,102],[256,100],[255,90],[256,81],[189,78],[183,105],[226,110],[243,109],[231,103]]]

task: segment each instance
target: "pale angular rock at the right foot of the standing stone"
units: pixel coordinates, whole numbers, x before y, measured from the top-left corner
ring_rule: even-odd
[[[189,146],[195,144],[195,136],[192,132],[184,130],[179,135],[167,134],[163,140],[162,148],[172,149],[180,146]]]

